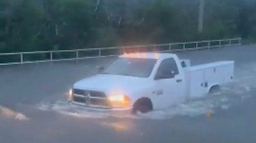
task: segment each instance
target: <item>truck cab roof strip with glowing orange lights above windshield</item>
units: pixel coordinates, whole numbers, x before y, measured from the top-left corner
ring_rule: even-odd
[[[175,56],[175,54],[140,52],[140,53],[123,54],[119,57],[131,57],[131,58],[142,58],[142,59],[165,59],[167,57],[173,57],[173,56]]]

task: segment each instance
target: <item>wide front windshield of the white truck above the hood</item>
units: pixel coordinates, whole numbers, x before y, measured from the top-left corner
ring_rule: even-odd
[[[156,59],[118,57],[102,73],[132,77],[149,77],[156,61]]]

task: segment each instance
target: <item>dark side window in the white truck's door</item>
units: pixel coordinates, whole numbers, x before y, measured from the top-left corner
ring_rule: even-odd
[[[173,77],[173,75],[178,75],[179,70],[177,68],[177,64],[175,63],[175,60],[173,58],[164,59],[157,70],[157,75],[159,74],[164,74],[165,77],[170,78]]]

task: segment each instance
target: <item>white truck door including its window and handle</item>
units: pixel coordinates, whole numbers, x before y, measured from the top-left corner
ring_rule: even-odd
[[[179,72],[182,71],[178,70],[173,58],[164,59],[159,64],[152,95],[154,98],[152,102],[156,107],[166,108],[184,101],[185,81]]]

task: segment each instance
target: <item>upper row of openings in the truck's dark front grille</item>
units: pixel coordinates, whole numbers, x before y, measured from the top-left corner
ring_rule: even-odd
[[[83,89],[73,89],[74,94],[83,95],[83,96],[90,96],[92,97],[99,97],[99,98],[106,98],[106,94],[100,91],[90,91],[90,90],[83,90]]]

